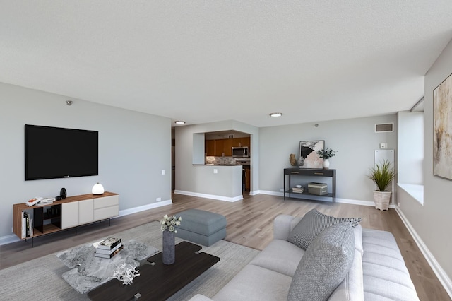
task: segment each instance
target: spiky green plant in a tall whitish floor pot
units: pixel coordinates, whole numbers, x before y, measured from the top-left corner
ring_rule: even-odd
[[[374,191],[375,208],[379,210],[388,210],[389,200],[391,199],[391,191],[387,191],[386,188],[391,181],[396,177],[396,171],[391,166],[388,160],[384,160],[383,163],[375,165],[370,169],[370,175],[368,175],[378,187],[378,190]]]

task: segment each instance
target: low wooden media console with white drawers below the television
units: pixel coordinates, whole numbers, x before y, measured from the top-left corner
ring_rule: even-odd
[[[32,234],[23,232],[23,213],[32,218]],[[119,194],[82,194],[69,196],[44,206],[27,206],[25,203],[13,205],[13,232],[21,240],[33,239],[61,230],[76,228],[79,225],[109,220],[119,216]],[[76,228],[77,235],[77,228]]]

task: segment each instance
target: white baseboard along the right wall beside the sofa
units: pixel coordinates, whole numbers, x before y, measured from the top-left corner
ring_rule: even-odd
[[[429,248],[426,244],[424,244],[424,241],[422,241],[421,237],[417,235],[417,232],[415,228],[412,227],[410,221],[406,216],[403,214],[402,210],[396,206],[396,212],[398,213],[398,216],[400,216],[400,219],[405,224],[405,227],[408,229],[408,232],[410,232],[412,238],[415,240],[417,247],[421,250],[422,254],[424,255],[425,259],[429,263],[430,267],[432,268],[433,272],[435,273],[436,277],[438,277],[439,282],[443,285],[444,289],[448,293],[449,297],[452,299],[452,281],[451,278],[447,276],[447,273],[441,268],[438,261],[436,261],[435,257],[433,256],[432,252],[430,252]]]

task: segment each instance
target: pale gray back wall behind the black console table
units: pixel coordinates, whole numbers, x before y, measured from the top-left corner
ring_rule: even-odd
[[[388,122],[396,124],[396,114],[261,128],[261,191],[280,193],[283,189],[283,169],[291,167],[289,155],[295,153],[299,158],[299,141],[324,140],[326,147],[338,151],[330,159],[330,168],[336,170],[337,198],[373,202],[374,185],[366,175],[374,166],[374,150],[379,148],[381,142],[388,143],[388,148],[397,147],[396,132],[374,132],[375,124]]]

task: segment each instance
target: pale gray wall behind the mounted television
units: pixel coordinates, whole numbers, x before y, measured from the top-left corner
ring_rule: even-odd
[[[119,210],[171,200],[171,119],[0,83],[0,237],[11,235],[13,203],[34,196],[89,194],[100,182]],[[99,131],[99,175],[25,181],[24,125]],[[37,146],[38,147],[38,146]],[[60,146],[58,141],[52,146]],[[165,170],[165,175],[162,174]]]

